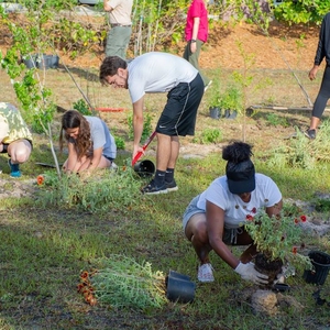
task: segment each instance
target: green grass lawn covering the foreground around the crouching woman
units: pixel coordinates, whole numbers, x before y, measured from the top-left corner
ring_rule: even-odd
[[[35,156],[50,155],[40,152]],[[121,163],[124,160],[119,160]],[[271,167],[256,155],[255,166],[278,184],[284,198],[312,200],[315,191],[327,191],[330,185],[324,176],[327,164],[312,170]],[[25,173],[33,173],[33,167],[25,164]],[[107,305],[90,307],[76,292],[80,272],[91,270],[95,260],[113,254],[150,262],[154,272],[167,274],[174,270],[196,280],[197,258],[183,234],[182,216],[190,199],[223,175],[224,168],[220,154],[202,160],[179,158],[176,170],[179,190],[132,202],[130,211],[111,209],[110,205],[107,211],[88,212],[61,205],[40,207],[33,198],[2,199],[2,328],[34,329],[38,324],[42,329],[308,329],[310,322],[319,327],[329,324],[329,310],[316,306],[311,297],[316,287],[306,284],[302,274],[288,278],[287,283],[292,286],[289,295],[305,307],[304,312],[283,307],[276,318],[254,315],[244,298],[244,293],[253,286],[241,280],[215,253],[211,261],[216,282],[197,283],[195,301],[190,305],[169,302],[144,311],[116,310]],[[138,186],[145,182],[134,179]],[[330,252],[327,239],[312,238],[308,243]],[[240,248],[233,252],[239,255]]]

